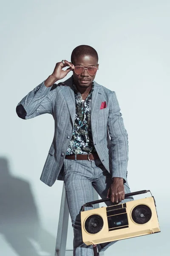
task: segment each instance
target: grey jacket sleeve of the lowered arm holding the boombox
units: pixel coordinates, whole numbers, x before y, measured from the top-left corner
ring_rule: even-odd
[[[112,178],[122,177],[125,183],[127,181],[128,135],[114,91],[109,109],[108,131],[111,137]]]

